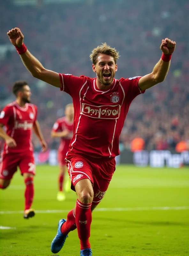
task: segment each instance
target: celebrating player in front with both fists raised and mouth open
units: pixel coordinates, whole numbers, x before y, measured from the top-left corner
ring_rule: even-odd
[[[89,243],[92,211],[105,195],[115,171],[119,135],[128,109],[137,95],[164,81],[176,43],[168,38],[162,40],[163,53],[152,73],[117,80],[114,76],[119,53],[106,43],[93,49],[90,55],[96,78],[77,77],[45,69],[23,44],[24,36],[19,28],[9,30],[7,35],[32,76],[72,96],[74,135],[66,161],[78,199],[67,220],[59,221],[51,251],[59,252],[68,233],[77,227],[80,255],[92,255]]]

